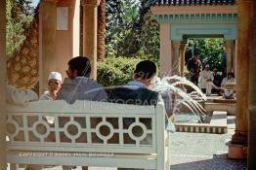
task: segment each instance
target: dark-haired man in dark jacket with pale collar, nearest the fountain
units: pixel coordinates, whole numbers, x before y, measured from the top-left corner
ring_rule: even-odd
[[[144,60],[136,65],[133,81],[123,87],[110,91],[109,102],[137,105],[155,105],[158,93],[148,87],[156,74],[156,65],[149,60]]]

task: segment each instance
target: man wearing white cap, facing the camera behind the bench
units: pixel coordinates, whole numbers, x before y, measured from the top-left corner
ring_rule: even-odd
[[[40,100],[56,100],[57,92],[62,85],[62,75],[59,72],[51,72],[48,77],[48,89],[40,97]]]

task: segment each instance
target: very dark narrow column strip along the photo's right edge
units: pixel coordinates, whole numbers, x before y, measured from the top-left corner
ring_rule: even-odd
[[[256,2],[254,2],[256,12]],[[250,57],[250,96],[249,96],[249,141],[248,141],[248,170],[256,169],[256,13],[251,27],[251,57]]]

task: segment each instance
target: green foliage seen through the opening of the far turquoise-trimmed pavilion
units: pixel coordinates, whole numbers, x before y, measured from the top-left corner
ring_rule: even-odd
[[[199,50],[199,58],[202,62],[203,68],[206,64],[217,66],[218,70],[222,68],[222,55],[225,52],[224,39],[193,39],[190,40],[189,46]]]

